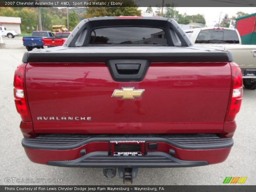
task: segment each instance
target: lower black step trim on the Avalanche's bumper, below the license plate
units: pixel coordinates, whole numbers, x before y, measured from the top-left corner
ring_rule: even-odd
[[[148,152],[145,156],[110,156],[108,152],[88,153],[70,161],[49,161],[47,165],[61,167],[195,167],[206,161],[184,161],[164,152]]]

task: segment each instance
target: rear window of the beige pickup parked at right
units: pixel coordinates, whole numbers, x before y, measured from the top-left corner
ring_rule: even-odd
[[[239,39],[234,30],[202,30],[196,38],[196,43],[238,44]]]

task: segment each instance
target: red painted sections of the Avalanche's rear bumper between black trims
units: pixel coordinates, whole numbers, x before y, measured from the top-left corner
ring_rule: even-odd
[[[150,142],[148,142],[150,143]],[[147,145],[148,145],[147,143]],[[152,142],[151,142],[152,143]],[[173,147],[164,142],[154,142],[158,144],[157,150],[147,151],[161,151],[169,153],[170,148],[174,149],[176,154],[174,157],[181,160],[189,161],[207,161],[209,164],[215,164],[225,161],[231,148],[223,149],[207,149],[207,150],[190,150]],[[74,160],[79,157],[80,151],[86,149],[86,154],[93,151],[109,151],[109,142],[92,142],[79,148],[70,150],[45,150],[45,149],[30,149],[25,148],[28,158],[34,163],[46,164],[48,161],[65,161]]]

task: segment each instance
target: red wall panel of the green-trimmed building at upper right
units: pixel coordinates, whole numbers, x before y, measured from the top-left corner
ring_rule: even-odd
[[[244,36],[256,31],[256,16],[241,19],[236,22],[236,29],[239,31],[240,36]]]

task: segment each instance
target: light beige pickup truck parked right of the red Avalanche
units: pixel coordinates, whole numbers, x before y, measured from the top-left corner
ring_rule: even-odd
[[[242,69],[244,87],[256,89],[256,45],[242,45],[234,28],[194,28],[185,30],[195,45],[214,46],[231,51]]]

